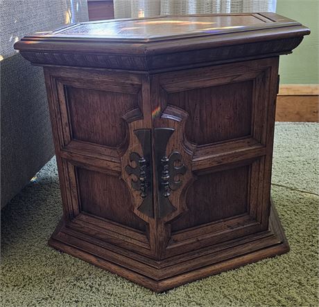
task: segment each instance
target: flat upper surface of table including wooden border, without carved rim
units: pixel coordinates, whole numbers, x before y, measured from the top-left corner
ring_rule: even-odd
[[[160,16],[113,19],[73,24],[53,31],[36,32],[30,39],[99,39],[100,41],[159,41],[222,35],[252,30],[298,26],[300,23],[274,13]]]

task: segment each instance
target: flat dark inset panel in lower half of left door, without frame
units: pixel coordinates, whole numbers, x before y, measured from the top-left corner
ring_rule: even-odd
[[[118,176],[77,167],[81,211],[146,231],[146,223],[134,213],[126,183]]]

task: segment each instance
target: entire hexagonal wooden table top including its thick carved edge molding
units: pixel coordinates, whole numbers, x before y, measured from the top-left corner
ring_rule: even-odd
[[[173,65],[180,62],[180,57],[187,63],[290,53],[309,33],[298,21],[272,12],[157,16],[81,22],[36,32],[18,41],[15,49],[33,63],[144,70],[162,66],[163,61]],[[259,44],[258,49],[251,43],[264,45]],[[214,58],[210,51],[205,55],[191,54],[196,50],[216,52]],[[178,53],[184,55],[178,59],[155,58]]]

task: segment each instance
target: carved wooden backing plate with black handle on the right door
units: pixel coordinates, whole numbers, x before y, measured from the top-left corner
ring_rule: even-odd
[[[164,98],[162,99],[164,101]],[[191,161],[196,144],[185,136],[188,113],[166,106],[154,120],[154,160],[157,165],[158,217],[167,223],[187,210],[185,195],[194,180]]]

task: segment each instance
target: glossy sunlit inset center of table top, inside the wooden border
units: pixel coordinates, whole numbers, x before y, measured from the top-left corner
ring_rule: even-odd
[[[187,35],[190,33],[213,33],[223,30],[263,26],[265,21],[254,15],[160,17],[101,21],[79,24],[57,34],[65,36],[101,36],[117,38],[149,38]]]

